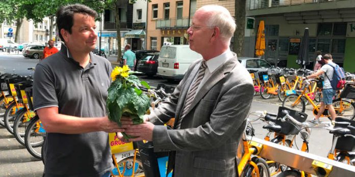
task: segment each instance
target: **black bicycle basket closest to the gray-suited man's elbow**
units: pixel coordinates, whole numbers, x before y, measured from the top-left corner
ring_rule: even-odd
[[[297,135],[299,130],[293,124],[287,121],[282,122],[281,120],[278,120],[278,118],[283,118],[286,115],[283,113],[283,110],[287,110],[289,115],[291,115],[298,122],[305,122],[308,115],[305,112],[299,112],[282,106],[278,107],[276,124],[281,126],[281,131],[279,133],[284,135]]]

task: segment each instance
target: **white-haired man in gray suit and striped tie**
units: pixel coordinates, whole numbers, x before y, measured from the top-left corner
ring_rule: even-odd
[[[153,141],[156,152],[172,151],[174,176],[238,176],[237,146],[254,92],[251,77],[229,45],[236,24],[221,6],[199,8],[187,30],[194,62],[171,98],[144,124],[125,121],[130,141]],[[172,130],[163,126],[175,117]]]

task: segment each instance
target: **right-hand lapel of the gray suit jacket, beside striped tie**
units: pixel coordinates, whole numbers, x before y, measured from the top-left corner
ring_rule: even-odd
[[[211,88],[218,81],[224,78],[225,74],[230,73],[237,63],[238,63],[237,55],[235,55],[233,58],[228,60],[225,64],[217,68],[211,74],[211,77],[205,82],[204,85],[201,86],[200,90],[197,92],[188,112],[190,112],[196,106],[196,104],[211,90]]]

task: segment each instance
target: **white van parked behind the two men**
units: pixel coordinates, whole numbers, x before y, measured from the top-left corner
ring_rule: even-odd
[[[182,79],[189,66],[201,58],[189,45],[163,46],[159,53],[157,75],[166,79]]]

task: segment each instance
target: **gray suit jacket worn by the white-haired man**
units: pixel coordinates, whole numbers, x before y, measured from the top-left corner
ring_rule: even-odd
[[[176,151],[176,177],[238,176],[237,146],[246,126],[254,88],[235,53],[202,85],[181,129],[168,130],[162,126],[171,117],[175,117],[176,125],[200,62],[190,66],[171,99],[149,115],[150,122],[157,125],[153,130],[154,148],[156,152]]]

